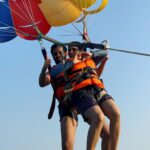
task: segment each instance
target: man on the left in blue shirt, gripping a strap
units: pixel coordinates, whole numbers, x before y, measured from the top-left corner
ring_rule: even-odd
[[[51,53],[56,63],[50,72],[47,72],[50,65],[50,59],[45,60],[39,77],[39,85],[41,87],[52,83],[54,90],[57,90],[57,76],[62,73],[63,61],[66,57],[66,48],[61,45],[54,44],[51,47]],[[61,101],[61,99],[59,98]],[[61,140],[62,150],[73,150],[75,132],[77,127],[77,116],[73,114],[69,106],[59,103],[59,115],[61,124]]]

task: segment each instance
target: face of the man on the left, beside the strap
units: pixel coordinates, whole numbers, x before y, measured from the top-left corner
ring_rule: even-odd
[[[63,50],[63,47],[56,47],[55,49],[53,49],[52,56],[56,64],[63,62],[63,59],[65,59],[65,52]]]

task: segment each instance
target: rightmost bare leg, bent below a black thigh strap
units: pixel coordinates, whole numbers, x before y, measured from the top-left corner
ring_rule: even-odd
[[[110,141],[111,150],[117,150],[120,136],[120,112],[113,100],[105,101],[101,109],[110,119]]]

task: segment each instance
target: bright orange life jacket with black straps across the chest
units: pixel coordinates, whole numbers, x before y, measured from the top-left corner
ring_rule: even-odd
[[[65,93],[73,92],[89,85],[96,85],[104,88],[103,83],[98,79],[96,72],[96,64],[92,59],[78,62],[73,65],[71,70],[67,72],[68,83],[72,83],[72,87],[65,85]]]

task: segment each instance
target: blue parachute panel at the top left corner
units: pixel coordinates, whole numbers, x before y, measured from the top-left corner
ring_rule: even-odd
[[[17,36],[13,27],[8,0],[0,0],[0,43],[10,41]]]

